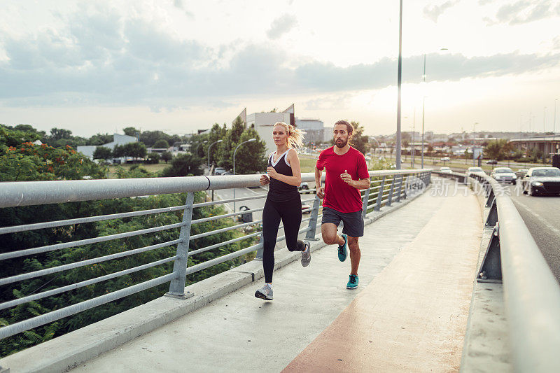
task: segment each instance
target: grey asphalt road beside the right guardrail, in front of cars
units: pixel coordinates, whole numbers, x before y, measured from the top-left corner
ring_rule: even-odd
[[[517,211],[560,283],[560,197],[529,197],[513,185],[510,191]]]

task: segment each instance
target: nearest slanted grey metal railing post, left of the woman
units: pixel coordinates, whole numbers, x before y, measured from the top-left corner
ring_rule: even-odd
[[[173,273],[175,279],[169,283],[169,292],[166,293],[168,297],[175,297],[186,299],[192,297],[193,293],[185,293],[185,281],[187,277],[187,259],[188,259],[188,244],[190,240],[190,222],[193,220],[193,204],[195,202],[195,193],[187,193],[187,201],[185,203],[185,211],[183,212],[183,227],[179,233],[181,242],[177,244],[177,259],[173,265]]]

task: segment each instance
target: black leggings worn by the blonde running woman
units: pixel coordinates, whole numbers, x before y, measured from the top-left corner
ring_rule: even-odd
[[[267,198],[265,209],[262,210],[262,268],[265,269],[265,282],[272,282],[272,270],[274,269],[274,246],[278,236],[280,219],[284,225],[286,234],[286,246],[289,251],[304,251],[302,241],[297,241],[297,232],[302,223],[302,200],[297,198],[286,202],[272,202]]]

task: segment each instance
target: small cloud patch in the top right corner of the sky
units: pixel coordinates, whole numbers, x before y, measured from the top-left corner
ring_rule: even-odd
[[[486,20],[487,24],[524,24],[560,15],[560,6],[552,8],[551,0],[521,0],[501,6],[495,20]]]

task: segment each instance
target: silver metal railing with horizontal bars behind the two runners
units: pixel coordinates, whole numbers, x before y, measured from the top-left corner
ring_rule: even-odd
[[[370,211],[379,211],[381,206],[390,206],[393,202],[398,202],[400,199],[407,197],[409,192],[413,192],[416,188],[421,188],[422,185],[430,183],[430,169],[420,170],[399,170],[399,171],[370,171],[372,181],[370,188],[362,190],[363,199],[363,214]],[[0,303],[0,311],[7,310],[12,307],[18,307],[22,304],[41,300],[45,297],[52,297],[61,293],[90,286],[102,281],[109,281],[118,279],[120,276],[133,274],[151,267],[164,265],[166,263],[174,262],[174,267],[171,273],[159,276],[149,281],[127,286],[120,290],[113,291],[92,299],[63,306],[62,308],[50,311],[46,314],[41,314],[27,320],[13,323],[12,325],[3,326],[0,328],[0,339],[16,335],[25,330],[37,328],[38,326],[57,321],[60,318],[78,314],[81,311],[97,307],[107,302],[119,300],[134,293],[139,293],[142,290],[160,286],[164,283],[169,283],[169,292],[166,294],[172,297],[186,298],[192,294],[185,293],[186,276],[193,274],[202,269],[218,265],[223,262],[246,255],[254,251],[257,252],[257,258],[262,258],[262,237],[258,244],[251,244],[245,248],[241,248],[233,253],[222,255],[218,258],[201,262],[197,265],[188,267],[188,258],[193,255],[204,253],[216,248],[221,248],[238,241],[254,238],[261,235],[261,232],[253,232],[251,234],[242,234],[241,237],[230,239],[224,242],[218,242],[204,248],[198,248],[195,251],[189,251],[189,244],[195,239],[208,237],[214,234],[220,234],[231,230],[239,230],[244,227],[256,226],[262,223],[262,220],[254,220],[244,224],[232,225],[230,227],[223,227],[217,230],[208,232],[201,232],[191,235],[191,227],[196,224],[205,223],[214,220],[225,218],[232,218],[239,215],[262,211],[262,207],[258,209],[248,209],[244,211],[234,211],[233,213],[225,213],[218,216],[207,216],[193,220],[193,209],[201,209],[204,207],[214,206],[217,204],[227,204],[229,202],[246,201],[249,199],[265,199],[266,195],[255,195],[255,197],[244,197],[237,199],[227,199],[215,202],[200,202],[194,203],[195,192],[206,190],[219,190],[229,188],[243,188],[258,186],[260,176],[258,175],[238,175],[238,176],[191,176],[181,178],[137,178],[137,179],[118,179],[118,180],[89,180],[89,181],[31,181],[31,182],[16,182],[16,183],[0,183],[0,208],[15,207],[15,206],[34,206],[43,204],[55,204],[64,202],[79,202],[79,201],[92,201],[97,199],[116,199],[123,197],[140,197],[149,195],[162,195],[162,194],[176,194],[187,192],[185,204],[179,206],[168,206],[158,209],[148,209],[141,211],[129,211],[124,213],[112,213],[108,215],[88,216],[82,218],[71,218],[66,220],[48,221],[42,223],[14,225],[8,227],[0,227],[0,237],[2,234],[24,234],[33,230],[54,230],[62,229],[62,227],[73,227],[83,223],[94,223],[102,220],[113,220],[122,218],[132,218],[136,216],[152,216],[160,213],[170,213],[174,211],[183,211],[183,217],[180,223],[173,223],[161,225],[157,227],[147,227],[141,230],[134,230],[131,232],[121,232],[116,234],[104,235],[101,237],[91,237],[88,239],[81,239],[77,241],[68,241],[62,243],[48,243],[43,246],[34,248],[27,248],[24,250],[13,250],[13,248],[3,249],[0,252],[0,264],[3,260],[14,260],[16,258],[29,258],[32,255],[43,255],[52,251],[65,250],[69,248],[76,248],[77,246],[99,244],[102,242],[112,241],[116,239],[124,239],[129,237],[138,237],[143,234],[153,234],[165,230],[180,229],[177,239],[161,242],[158,244],[135,248],[128,251],[113,253],[111,255],[104,255],[97,258],[90,258],[78,262],[71,262],[56,267],[40,269],[23,274],[16,274],[0,279],[0,286],[8,286],[20,281],[29,279],[36,279],[41,276],[49,274],[56,274],[59,272],[67,271],[69,269],[76,269],[80,267],[91,268],[99,262],[108,260],[115,260],[118,258],[125,258],[130,255],[139,253],[146,253],[148,251],[155,251],[158,248],[177,245],[175,255],[161,260],[148,262],[144,265],[131,267],[104,276],[94,277],[85,281],[76,283],[69,283],[59,288],[53,288],[43,291],[41,293],[29,294],[19,297],[14,300],[8,300]],[[323,175],[324,180],[324,175]],[[302,181],[314,181],[314,174],[302,174]],[[315,190],[302,190],[300,193],[314,192]],[[316,235],[316,227],[320,225],[321,215],[319,209],[321,201],[316,195],[311,199],[303,199],[304,202],[313,202],[313,206],[302,212],[310,211],[308,218],[302,219],[302,223],[307,223],[300,229],[301,233],[306,233],[307,239],[314,239]],[[264,204],[264,201],[263,201]],[[278,237],[276,241],[282,241],[285,237]],[[10,250],[12,249],[12,250]],[[12,285],[13,286],[13,285]]]

